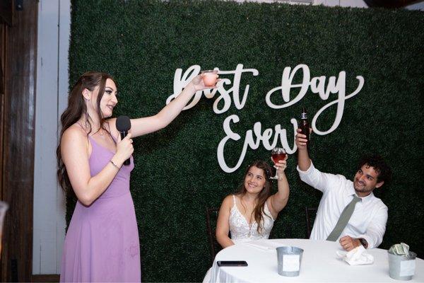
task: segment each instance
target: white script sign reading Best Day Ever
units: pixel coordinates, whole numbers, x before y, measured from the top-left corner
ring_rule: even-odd
[[[181,93],[182,89],[187,86],[190,81],[192,81],[194,76],[200,74],[200,71],[201,67],[199,65],[193,65],[192,67],[189,67],[189,69],[187,69],[184,74],[182,74],[182,69],[177,69],[174,76],[174,94],[167,98],[166,103],[170,103],[173,98]],[[295,74],[298,74],[299,71],[302,72],[302,83],[293,84],[293,78]],[[219,96],[213,103],[213,112],[216,114],[227,112],[230,109],[231,103],[234,103],[234,106],[237,108],[237,110],[242,110],[242,108],[245,107],[245,103],[249,95],[248,84],[244,86],[244,91],[240,91],[240,79],[242,74],[245,73],[251,74],[253,76],[259,75],[259,71],[257,69],[243,69],[242,64],[237,64],[237,67],[233,71],[218,70],[218,74],[232,74],[234,75],[234,79],[232,81],[227,78],[221,79],[217,84],[217,88],[213,90],[206,89],[204,91],[197,91],[193,100],[184,108],[184,110],[194,107],[194,105],[199,102],[202,94],[204,94],[206,98],[213,98],[216,96],[217,92],[219,93]],[[328,83],[326,83],[326,76],[318,76],[311,79],[310,69],[305,64],[299,64],[293,70],[290,67],[285,67],[283,70],[283,75],[281,76],[281,86],[277,86],[276,88],[273,88],[271,91],[266,93],[265,102],[266,105],[273,109],[288,108],[302,100],[309,88],[312,93],[317,93],[319,98],[322,100],[329,100],[330,94],[334,94],[337,96],[336,99],[331,100],[329,103],[324,105],[324,107],[317,111],[317,113],[314,115],[314,118],[312,119],[312,129],[315,134],[329,134],[334,132],[338,125],[340,125],[341,118],[343,117],[345,100],[357,95],[364,86],[363,76],[356,76],[356,79],[358,79],[359,82],[355,91],[346,95],[345,71],[338,73],[338,77],[330,76]],[[298,92],[293,94],[295,91]],[[243,93],[241,97],[240,92]],[[273,98],[273,102],[271,101],[271,96]],[[279,103],[275,103],[276,101],[279,101]],[[221,105],[221,107],[218,107],[218,104]],[[322,115],[322,113],[331,105],[336,105],[337,107],[336,117],[333,124],[331,127],[329,127],[329,129],[317,129],[316,125],[319,116]],[[258,149],[259,145],[262,144],[265,149],[271,150],[277,146],[279,141],[279,144],[283,146],[288,154],[295,153],[297,149],[294,140],[295,132],[298,128],[298,122],[295,118],[290,119],[290,122],[293,125],[293,147],[290,147],[287,139],[287,131],[286,129],[281,129],[281,125],[276,125],[274,129],[264,129],[262,131],[261,122],[256,122],[253,125],[253,129],[249,129],[245,132],[245,141],[237,163],[235,166],[228,166],[227,161],[225,161],[225,145],[230,141],[237,142],[242,138],[240,137],[240,134],[232,132],[231,129],[231,124],[237,122],[240,122],[240,118],[235,114],[225,118],[223,122],[225,137],[219,142],[216,152],[219,166],[226,173],[232,173],[241,166],[243,160],[245,159],[248,148]]]

